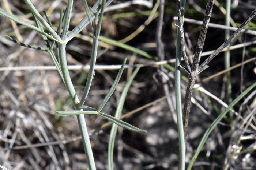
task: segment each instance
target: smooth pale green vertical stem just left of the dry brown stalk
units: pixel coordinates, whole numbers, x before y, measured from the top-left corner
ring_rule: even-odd
[[[185,0],[177,0],[177,8],[181,10],[182,24],[184,18],[184,9],[185,9]],[[184,138],[184,129],[183,129],[183,120],[182,120],[182,108],[181,108],[181,89],[180,89],[180,67],[181,64],[181,42],[180,42],[180,31],[177,30],[177,46],[176,46],[176,62],[175,62],[175,99],[176,99],[176,111],[177,111],[177,124],[178,124],[178,136],[179,136],[179,170],[185,170],[185,138]]]

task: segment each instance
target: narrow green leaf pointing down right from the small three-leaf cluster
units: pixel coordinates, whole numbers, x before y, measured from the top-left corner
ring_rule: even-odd
[[[138,127],[132,126],[131,124],[126,123],[123,120],[117,119],[117,118],[107,115],[105,113],[99,112],[98,115],[101,116],[102,118],[105,118],[105,119],[117,124],[118,126],[126,128],[128,130],[139,132],[139,133],[147,133],[146,130],[139,129]]]

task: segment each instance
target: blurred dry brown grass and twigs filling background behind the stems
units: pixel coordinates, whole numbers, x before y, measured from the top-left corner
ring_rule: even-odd
[[[253,4],[253,1],[237,1],[238,5],[234,4],[231,9],[231,17],[234,23],[241,24],[256,8],[256,4]],[[49,14],[53,25],[57,27],[59,12],[65,9],[67,0],[33,0],[33,2],[38,11],[46,11]],[[111,5],[123,2],[126,1],[113,1]],[[225,2],[218,2],[221,6],[214,5],[210,23],[224,25],[225,15],[221,7],[225,7]],[[94,1],[90,0],[89,3],[93,5]],[[153,1],[153,7],[155,3],[156,1]],[[5,10],[9,6],[14,15],[34,24],[29,8],[23,1],[1,0],[0,6]],[[204,1],[188,0],[185,17],[202,21],[205,6]],[[152,19],[148,19],[152,8],[133,4],[106,12],[102,35],[110,39],[122,40],[140,26],[145,25],[145,28],[126,44],[157,56],[155,35],[158,13],[153,13]],[[75,27],[85,15],[82,1],[74,1],[73,12],[71,27]],[[176,1],[165,1],[162,31],[165,60],[175,58],[177,26],[174,25],[176,24],[174,16],[177,16]],[[252,19],[248,25],[249,29],[256,28],[255,21],[256,19]],[[195,52],[200,28],[200,25],[195,23],[184,22],[189,62]],[[67,45],[69,65],[88,64],[91,53],[90,31],[90,28],[86,27],[79,37],[74,38]],[[241,33],[241,36],[238,36],[232,44],[241,44],[241,47],[230,51],[231,66],[255,57],[255,34],[253,33],[255,31]],[[48,53],[21,47],[8,40],[5,35],[12,36],[26,44],[44,47],[44,41],[37,32],[19,24],[12,24],[9,19],[0,16],[0,165],[15,170],[85,170],[87,168],[86,155],[76,117],[62,116],[55,112],[56,110],[72,110],[72,102],[58,72],[53,68],[46,68],[46,66],[54,65],[52,59]],[[209,27],[203,52],[215,50],[224,41],[223,29]],[[245,46],[244,43],[248,42],[252,44]],[[209,68],[197,76],[196,83],[199,83],[201,90],[193,93],[186,144],[187,163],[190,162],[189,159],[193,156],[205,130],[225,109],[221,102],[206,94],[202,88],[224,103],[228,103],[225,74],[204,81],[205,78],[224,70],[223,56],[224,53],[220,53],[208,64]],[[124,58],[127,58],[127,64],[130,65],[152,62],[150,59],[123,48],[111,44],[100,44],[96,64],[105,66],[122,64]],[[174,66],[173,62],[170,64]],[[17,70],[8,70],[10,68]],[[135,111],[123,120],[147,130],[147,134],[138,134],[123,128],[118,129],[114,155],[114,163],[118,170],[178,169],[178,134],[173,96],[174,72],[162,71],[159,68],[155,65],[142,67],[128,92],[123,115]],[[108,68],[96,70],[86,101],[87,106],[97,108],[101,104],[117,72],[118,70]],[[116,91],[102,112],[114,115],[118,99],[131,72],[131,68],[124,71]],[[86,70],[72,68],[70,74],[77,94],[81,96],[86,80]],[[183,70],[182,74],[188,76]],[[167,78],[166,82],[162,81],[163,77]],[[241,91],[254,83],[255,78],[255,59],[242,67],[231,70],[232,98],[236,98]],[[166,96],[163,90],[164,85],[169,87],[171,94],[169,104],[166,98],[162,98]],[[183,97],[186,86],[187,83],[182,80]],[[220,170],[225,167],[237,170],[256,169],[255,92],[253,91],[251,96],[247,95],[234,107],[234,118],[230,116],[231,114],[227,114],[214,129],[193,169]],[[145,106],[148,103],[149,105]],[[99,116],[85,116],[91,132],[90,140],[97,169],[106,170],[108,169],[107,151],[110,126],[102,127],[108,121]]]

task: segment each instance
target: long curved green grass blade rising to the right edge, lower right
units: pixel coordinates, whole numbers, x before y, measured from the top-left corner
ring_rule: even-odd
[[[244,92],[242,92],[235,100],[233,100],[233,102],[230,103],[230,105],[225,109],[225,111],[223,111],[215,120],[214,122],[212,122],[211,126],[206,130],[206,132],[204,133],[203,138],[201,139],[197,149],[196,149],[196,153],[193,156],[188,169],[187,170],[191,170],[193,163],[195,162],[198,154],[200,153],[200,151],[202,150],[204,143],[206,142],[208,136],[210,135],[211,131],[214,129],[215,126],[217,126],[217,124],[221,121],[221,119],[227,114],[227,112],[229,112],[231,110],[231,108],[233,108],[235,106],[235,104],[237,102],[239,102],[246,94],[248,94],[249,91],[251,91],[254,87],[256,86],[256,82],[253,83],[250,87],[248,87]]]

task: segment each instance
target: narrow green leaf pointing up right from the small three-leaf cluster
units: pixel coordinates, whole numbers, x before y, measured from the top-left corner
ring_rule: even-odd
[[[122,73],[123,73],[123,71],[124,71],[124,66],[125,66],[126,60],[127,60],[127,59],[125,58],[125,60],[124,60],[124,62],[123,62],[123,64],[122,64],[122,66],[121,66],[121,68],[120,68],[120,70],[119,70],[119,72],[118,72],[118,74],[117,74],[117,76],[116,76],[116,79],[115,79],[115,81],[114,81],[112,87],[110,88],[108,94],[106,95],[105,99],[104,99],[103,102],[101,103],[101,106],[99,106],[98,112],[100,112],[100,111],[102,110],[102,108],[103,108],[103,107],[105,106],[105,104],[108,102],[110,96],[113,94],[114,90],[116,89],[116,86],[117,86],[117,84],[118,84],[118,82],[119,82],[119,80],[120,80],[120,78],[121,78],[121,75],[122,75]]]

